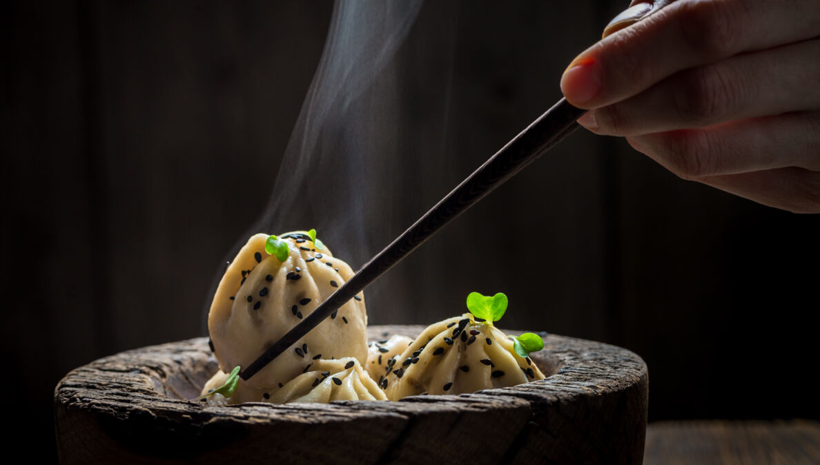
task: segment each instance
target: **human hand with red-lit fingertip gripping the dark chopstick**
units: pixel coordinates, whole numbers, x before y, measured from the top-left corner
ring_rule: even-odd
[[[670,2],[586,49],[561,89],[590,108],[582,126],[679,177],[820,212],[818,0]]]

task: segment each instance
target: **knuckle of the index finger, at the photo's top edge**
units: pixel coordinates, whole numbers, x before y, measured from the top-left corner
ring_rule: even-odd
[[[723,57],[736,51],[743,2],[704,0],[681,2],[678,27],[686,45],[704,57]]]

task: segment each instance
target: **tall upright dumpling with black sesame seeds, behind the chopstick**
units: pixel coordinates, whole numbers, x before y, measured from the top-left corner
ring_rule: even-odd
[[[335,292],[353,270],[318,248],[307,233],[280,236],[289,247],[284,262],[265,251],[267,234],[248,240],[222,277],[208,315],[214,355],[222,372],[248,366],[299,320]],[[330,318],[262,368],[247,388],[271,389],[325,358],[367,361],[367,314],[360,292]],[[253,394],[254,396],[256,394]]]

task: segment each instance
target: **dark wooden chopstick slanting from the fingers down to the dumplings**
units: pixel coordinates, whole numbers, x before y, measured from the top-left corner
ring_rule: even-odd
[[[554,104],[529,127],[510,140],[453,191],[450,191],[444,199],[421,216],[385,250],[380,251],[362,266],[353,278],[321,302],[316,310],[291,328],[250,366],[241,371],[239,375],[242,379],[248,380],[256,375],[280,353],[285,352],[287,348],[303,338],[311,329],[316,328],[368,284],[376,281],[388,269],[393,268],[405,256],[433,237],[447,223],[552,149],[564,137],[572,134],[572,131],[579,127],[576,119],[585,112],[586,110],[575,108],[567,103],[566,99],[560,99],[557,104]]]

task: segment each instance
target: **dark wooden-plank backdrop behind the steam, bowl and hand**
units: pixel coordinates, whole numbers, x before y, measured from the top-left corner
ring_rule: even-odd
[[[563,67],[625,3],[427,4],[394,64],[409,76],[402,140],[431,139],[448,169],[408,193],[399,220],[367,228],[400,233],[549,107]],[[212,279],[271,195],[332,5],[4,10],[5,411],[43,439],[31,453],[54,458],[62,375],[205,334]],[[368,313],[428,324],[461,312],[471,290],[502,290],[503,327],[643,357],[650,421],[820,418],[807,370],[818,233],[818,215],[681,181],[623,140],[579,131],[385,276]]]

